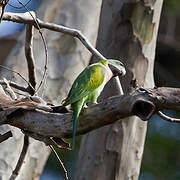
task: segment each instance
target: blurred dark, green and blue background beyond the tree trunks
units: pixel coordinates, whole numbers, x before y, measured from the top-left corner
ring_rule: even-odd
[[[27,1],[23,1],[26,3]],[[18,6],[16,0],[10,4]],[[27,4],[30,10],[38,8],[40,0]],[[6,11],[25,12],[8,6]],[[157,40],[154,68],[155,84],[159,86],[180,87],[180,1],[164,0]],[[24,25],[3,21],[0,24],[0,61],[14,46]],[[11,38],[10,38],[11,37]],[[7,48],[8,47],[8,48]],[[166,111],[172,117],[180,118],[180,113]],[[180,124],[168,123],[153,116],[148,122],[148,131],[141,166],[140,180],[180,179]],[[73,179],[81,137],[76,138],[74,151],[58,151],[70,177]],[[63,179],[63,171],[54,154],[51,153],[40,180]]]

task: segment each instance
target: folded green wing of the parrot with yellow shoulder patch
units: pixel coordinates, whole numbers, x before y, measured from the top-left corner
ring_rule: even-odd
[[[72,104],[97,89],[104,81],[105,67],[93,64],[82,71],[74,81],[64,106]]]

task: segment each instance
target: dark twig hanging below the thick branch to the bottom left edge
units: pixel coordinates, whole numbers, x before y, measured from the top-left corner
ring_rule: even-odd
[[[15,180],[16,177],[18,176],[19,170],[21,169],[21,166],[23,164],[24,158],[26,156],[28,147],[29,147],[29,138],[28,138],[28,136],[25,135],[24,136],[24,145],[23,145],[23,149],[22,149],[21,155],[20,155],[20,157],[18,159],[16,167],[15,167],[14,171],[12,172],[12,175],[9,178],[9,180]]]

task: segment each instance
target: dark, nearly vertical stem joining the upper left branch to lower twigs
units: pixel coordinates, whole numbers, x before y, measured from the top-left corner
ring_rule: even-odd
[[[28,65],[29,82],[34,88],[30,93],[31,95],[34,95],[36,87],[35,63],[33,56],[33,31],[34,27],[28,24],[26,26],[25,55]]]

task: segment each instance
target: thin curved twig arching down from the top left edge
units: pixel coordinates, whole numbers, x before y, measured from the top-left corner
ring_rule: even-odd
[[[47,69],[48,69],[48,49],[47,49],[47,45],[46,45],[46,41],[45,41],[45,38],[41,32],[41,28],[39,26],[39,23],[38,23],[38,20],[36,17],[33,16],[33,14],[29,11],[29,9],[19,0],[17,0],[22,6],[24,6],[24,8],[28,11],[28,13],[31,15],[31,17],[33,18],[34,20],[34,23],[36,24],[36,27],[39,31],[39,34],[43,40],[43,44],[44,44],[44,50],[45,50],[45,65],[44,65],[44,73],[43,73],[43,77],[42,77],[42,80],[37,88],[37,90],[35,91],[35,93],[37,93],[39,91],[39,89],[41,88],[41,86],[43,85],[44,81],[45,81],[45,78],[46,78],[46,75],[47,75]]]

